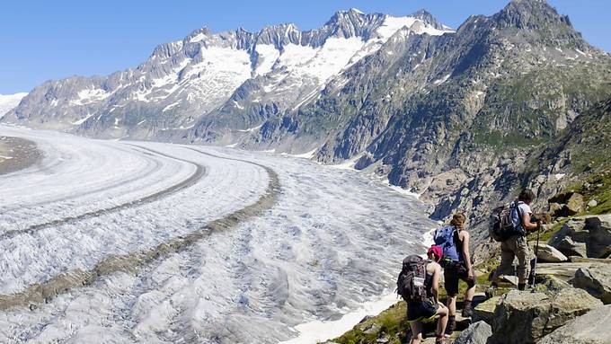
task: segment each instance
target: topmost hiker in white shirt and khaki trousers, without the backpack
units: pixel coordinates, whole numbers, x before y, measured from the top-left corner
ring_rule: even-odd
[[[530,204],[535,199],[532,190],[524,189],[520,192],[518,200],[511,203],[511,223],[514,234],[500,243],[500,266],[494,271],[491,278],[491,287],[486,290],[486,295],[491,297],[494,290],[498,287],[500,275],[509,270],[513,264],[514,257],[518,257],[518,289],[524,290],[528,278],[528,260],[530,251],[528,250],[527,233],[535,231],[541,225],[539,222],[531,222],[532,210]]]

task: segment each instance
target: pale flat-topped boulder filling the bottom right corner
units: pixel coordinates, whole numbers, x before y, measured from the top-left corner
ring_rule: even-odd
[[[611,343],[611,304],[598,307],[567,322],[546,335],[539,344],[608,344]]]

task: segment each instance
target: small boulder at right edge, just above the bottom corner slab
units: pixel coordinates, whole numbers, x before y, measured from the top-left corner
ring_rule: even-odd
[[[603,304],[611,304],[611,265],[600,264],[589,269],[578,269],[571,284],[587,291]]]

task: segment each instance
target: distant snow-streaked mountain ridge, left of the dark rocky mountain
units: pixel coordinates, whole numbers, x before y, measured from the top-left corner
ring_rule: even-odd
[[[196,125],[252,128],[270,114],[315,99],[333,77],[403,28],[447,32],[429,13],[394,17],[356,9],[334,13],[310,31],[292,23],[257,32],[202,27],[157,46],[134,69],[42,84],[6,119],[52,118],[53,128],[96,137],[167,137]],[[31,122],[50,125],[49,119]]]

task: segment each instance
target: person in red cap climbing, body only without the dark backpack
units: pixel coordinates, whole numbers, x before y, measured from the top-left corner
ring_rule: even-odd
[[[407,302],[407,321],[412,328],[411,344],[419,344],[422,340],[422,322],[433,319],[439,315],[435,343],[443,343],[447,324],[447,307],[438,301],[439,278],[441,277],[441,266],[438,261],[443,256],[441,248],[431,246],[427,252],[429,260],[426,260],[426,299],[422,302]]]

